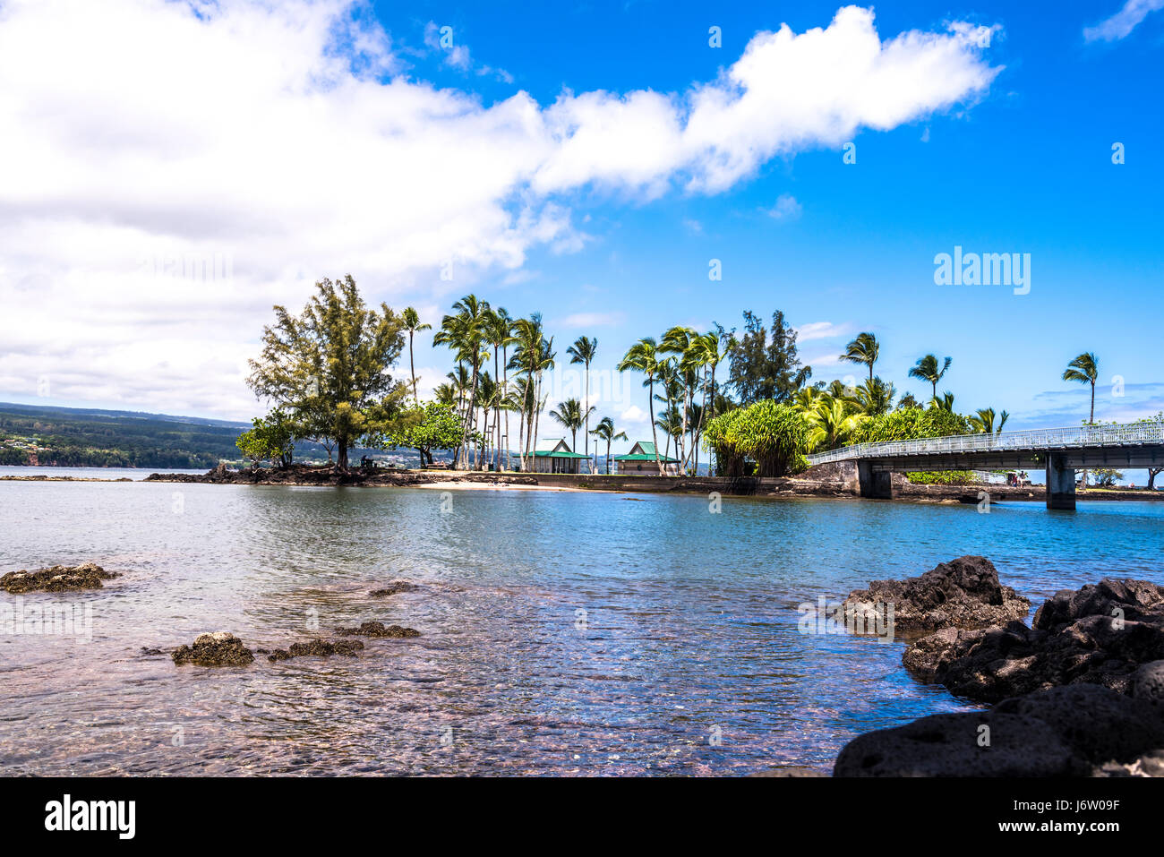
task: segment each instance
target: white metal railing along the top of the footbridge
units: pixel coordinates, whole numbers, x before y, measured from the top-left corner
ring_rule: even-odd
[[[809,455],[811,465],[852,459],[897,458],[900,455],[935,455],[941,453],[1027,452],[1074,449],[1100,446],[1164,445],[1164,423],[1126,423],[1123,425],[1085,425],[1073,428],[1038,428],[1030,432],[1001,434],[952,434],[921,440],[881,440],[853,444],[839,449]]]

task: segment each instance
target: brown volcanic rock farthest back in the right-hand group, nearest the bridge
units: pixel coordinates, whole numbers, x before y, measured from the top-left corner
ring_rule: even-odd
[[[859,604],[893,604],[894,631],[930,633],[941,628],[988,628],[1027,616],[1030,601],[999,583],[985,557],[941,562],[918,578],[875,580],[845,599],[845,610]]]

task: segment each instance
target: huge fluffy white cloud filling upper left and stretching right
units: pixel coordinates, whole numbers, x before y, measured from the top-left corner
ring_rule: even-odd
[[[8,0],[0,394],[246,416],[270,305],[314,279],[431,302],[534,246],[576,252],[573,190],[717,192],[971,100],[998,73],[980,33],[882,42],[847,7],[686,93],[485,106],[406,77],[347,0]]]

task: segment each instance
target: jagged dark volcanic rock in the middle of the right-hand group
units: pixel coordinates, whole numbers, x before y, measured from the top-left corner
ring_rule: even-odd
[[[979,702],[1080,682],[1129,694],[1136,671],[1156,660],[1164,660],[1164,587],[1110,578],[1058,593],[1032,628],[945,629],[902,657],[921,680]],[[1143,675],[1145,688],[1154,681]]]

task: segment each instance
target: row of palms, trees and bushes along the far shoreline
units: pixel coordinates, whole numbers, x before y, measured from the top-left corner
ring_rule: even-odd
[[[253,470],[263,465],[272,470],[296,467],[294,444],[312,440],[328,452],[324,469],[338,476],[375,469],[367,458],[359,468],[350,467],[348,452],[357,446],[413,451],[420,469],[528,475],[546,427],[544,413],[568,438],[570,449],[576,452],[581,442],[590,470],[583,475],[610,474],[611,444],[634,440],[602,413],[601,402],[591,404],[597,339],[579,337],[559,355],[540,313],[513,318],[475,295],[456,300],[432,337],[433,345],[449,349],[454,367],[424,402],[413,346],[433,325],[416,309],[368,309],[347,276],[320,281],[298,317],[282,306],[275,307],[275,316],[263,331],[263,349],[251,361],[249,377],[271,410],[237,441]],[[405,347],[409,374],[396,377]],[[808,469],[810,453],[882,440],[996,434],[1009,419],[993,405],[960,413],[952,392],[938,392],[953,366],[951,356],[924,354],[908,369],[908,377],[930,385],[923,404],[910,392],[899,396],[895,385],[876,374],[880,355],[876,334],[861,332],[838,361],[863,367],[866,377],[859,384],[814,382],[812,368],[799,356],[797,332],[783,313],[775,311],[766,321],[744,311],[738,332],[715,324],[703,333],[673,326],[658,339],[644,337],[616,369],[641,378],[652,475],[672,481],[697,480],[701,474],[795,479]],[[551,403],[547,374],[567,359],[582,367],[581,395]],[[1065,381],[1092,384],[1088,423],[1094,423],[1096,367],[1093,354],[1083,354],[1064,373]],[[512,426],[516,442],[510,442]],[[450,463],[438,465],[434,452],[447,453]],[[669,459],[679,461],[672,475],[663,467]],[[1101,473],[1098,484],[1112,487],[1116,477]],[[971,486],[979,479],[973,472],[908,475],[917,486]]]

